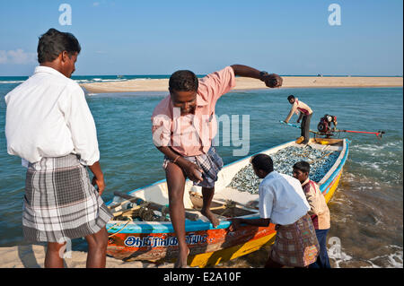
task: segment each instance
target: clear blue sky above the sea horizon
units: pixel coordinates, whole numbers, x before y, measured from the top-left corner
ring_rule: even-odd
[[[329,4],[341,25],[329,25]],[[59,23],[60,4],[72,25]],[[207,74],[243,64],[277,74],[402,75],[401,0],[0,1],[0,76],[30,75],[49,28],[82,45],[76,75]]]

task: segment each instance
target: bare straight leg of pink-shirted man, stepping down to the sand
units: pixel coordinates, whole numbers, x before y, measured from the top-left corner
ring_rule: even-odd
[[[185,208],[183,202],[185,176],[182,169],[172,162],[167,164],[165,176],[169,192],[171,223],[180,247],[180,253],[174,266],[182,268],[187,266],[189,255],[189,248],[185,240]]]

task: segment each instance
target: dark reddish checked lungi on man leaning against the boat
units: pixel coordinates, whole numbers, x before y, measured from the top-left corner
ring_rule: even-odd
[[[304,267],[316,262],[320,245],[308,214],[288,225],[276,226],[277,236],[270,258],[285,266]]]

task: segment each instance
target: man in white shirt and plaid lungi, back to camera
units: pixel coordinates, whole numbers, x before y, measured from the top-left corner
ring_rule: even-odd
[[[101,199],[97,133],[83,90],[70,79],[80,50],[72,34],[48,30],[38,45],[40,66],[5,96],[7,152],[28,168],[22,230],[26,240],[48,242],[45,267],[63,267],[60,250],[82,237],[87,267],[106,262],[112,215]]]

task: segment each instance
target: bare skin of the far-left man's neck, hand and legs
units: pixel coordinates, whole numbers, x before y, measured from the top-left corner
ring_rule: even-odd
[[[41,66],[48,66],[59,73],[64,74],[70,78],[75,72],[75,62],[77,61],[77,53],[69,55],[66,51],[57,56],[52,62],[41,63]],[[104,176],[101,170],[100,161],[95,162],[92,166],[89,166],[94,177],[92,178],[92,186],[98,186],[98,192],[102,195],[105,189]],[[88,243],[88,255],[87,255],[87,268],[105,268],[106,264],[106,252],[108,244],[108,232],[104,227],[99,232],[85,237]],[[60,257],[62,247],[65,247],[66,243],[48,242],[47,253],[45,256],[46,268],[63,268],[63,258]]]

